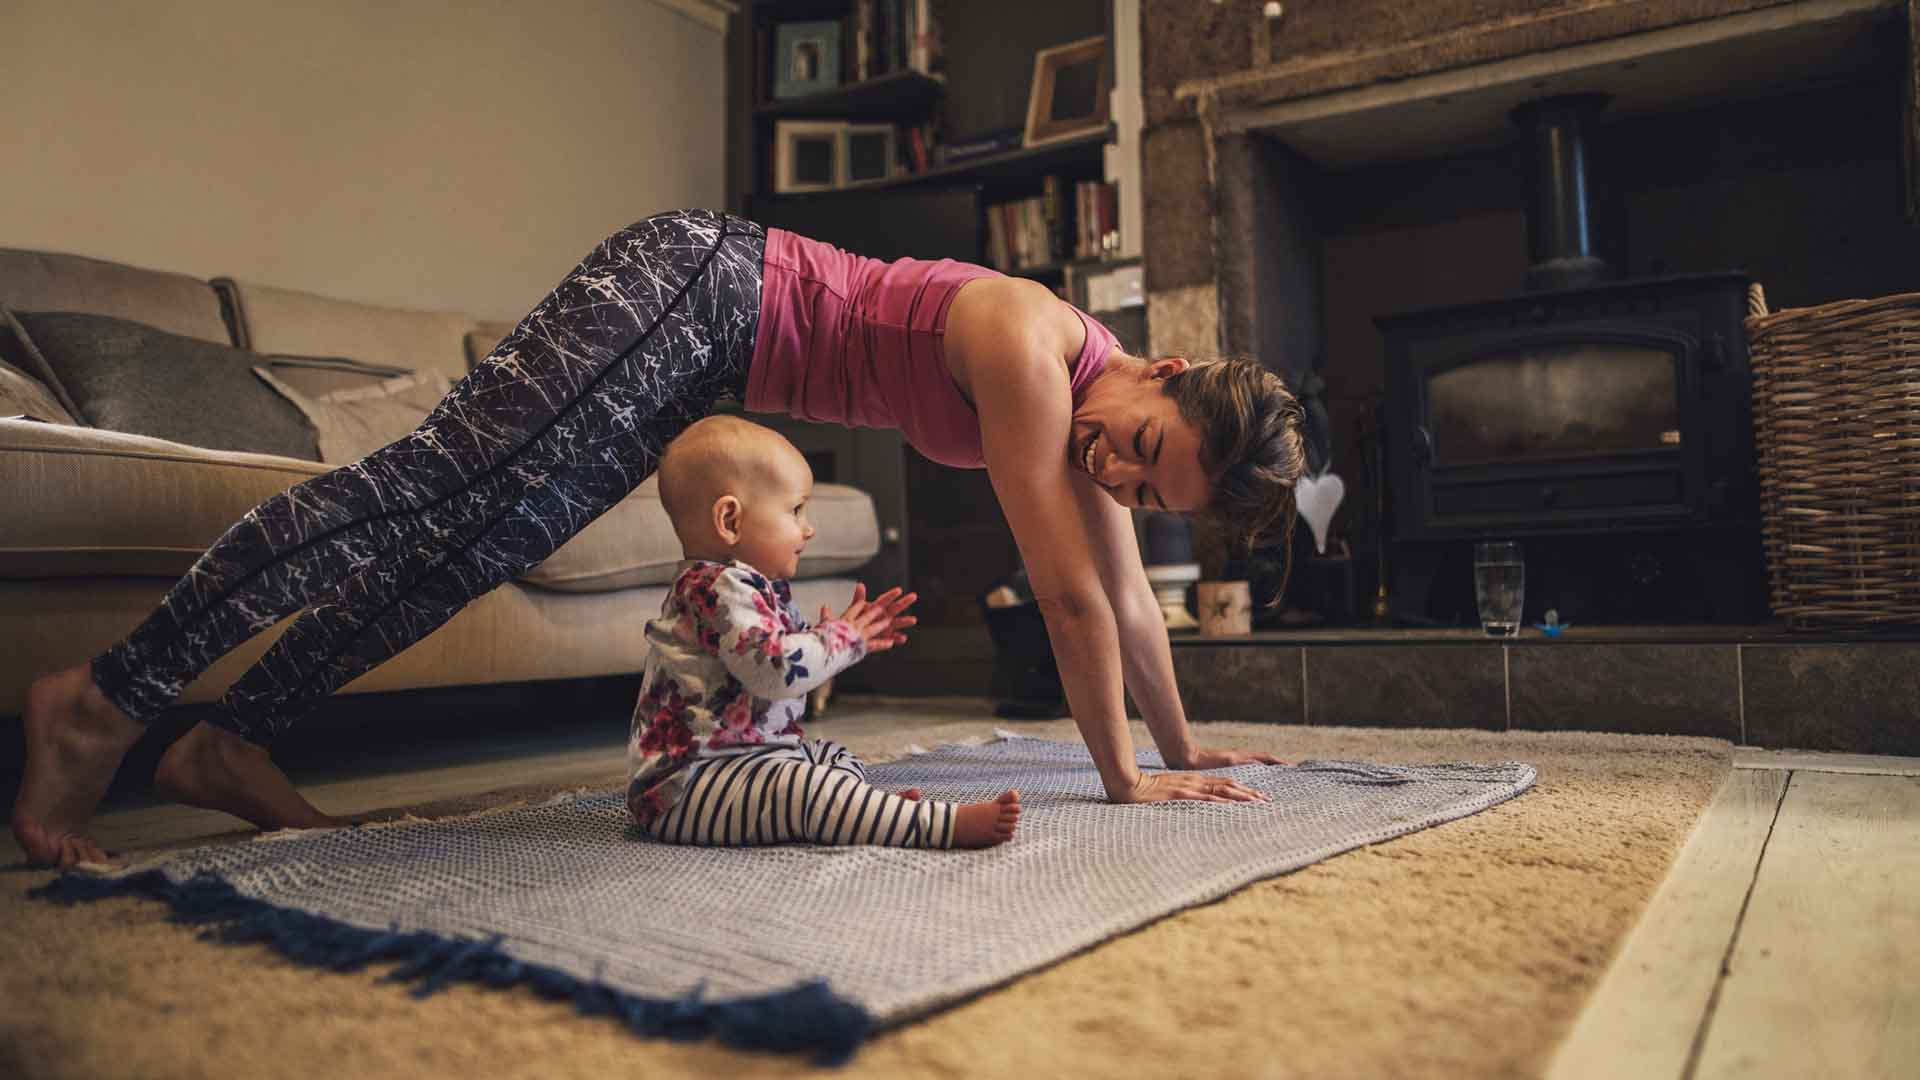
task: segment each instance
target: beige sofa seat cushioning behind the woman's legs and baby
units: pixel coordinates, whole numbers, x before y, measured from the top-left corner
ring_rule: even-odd
[[[326,465],[232,454],[83,427],[0,421],[0,490],[23,513],[0,513],[0,578],[175,577],[242,513]],[[801,577],[843,573],[879,550],[872,500],[820,484],[808,517],[818,534]],[[659,484],[634,494],[568,540],[524,580],[553,592],[666,584],[680,561]]]

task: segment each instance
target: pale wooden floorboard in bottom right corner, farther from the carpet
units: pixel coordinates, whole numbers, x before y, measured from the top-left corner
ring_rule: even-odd
[[[1693,1076],[1916,1076],[1916,897],[1920,778],[1793,773]]]

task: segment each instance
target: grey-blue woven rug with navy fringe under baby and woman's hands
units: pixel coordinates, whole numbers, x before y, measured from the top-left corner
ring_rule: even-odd
[[[1142,751],[1140,765],[1160,767],[1160,757]],[[1020,834],[985,851],[674,847],[630,836],[620,794],[609,792],[200,847],[144,867],[146,892],[171,888],[169,899],[188,911],[179,886],[223,882],[255,915],[317,917],[250,934],[307,963],[346,967],[338,945],[330,959],[300,955],[326,953],[313,944],[315,926],[355,928],[365,949],[394,938],[367,932],[424,932],[411,940],[478,942],[470,951],[695,1011],[764,999],[778,1013],[780,992],[824,980],[833,999],[887,1024],[1248,882],[1482,811],[1534,782],[1534,769],[1517,763],[1308,761],[1219,773],[1273,801],[1112,805],[1083,746],[1004,738],[872,767],[877,784],[918,786],[933,799],[1018,788]],[[228,896],[225,919],[246,911],[234,903]],[[390,945],[394,953],[409,955]],[[526,976],[495,965],[467,978]]]

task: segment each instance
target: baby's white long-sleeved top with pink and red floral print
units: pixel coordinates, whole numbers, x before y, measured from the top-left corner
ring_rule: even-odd
[[[787,582],[741,561],[680,563],[647,642],[626,740],[626,805],[643,826],[680,801],[687,765],[799,746],[806,692],[866,655],[847,621],[808,626]]]

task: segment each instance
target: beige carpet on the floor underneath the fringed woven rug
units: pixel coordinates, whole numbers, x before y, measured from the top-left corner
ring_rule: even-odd
[[[993,730],[831,717],[881,757]],[[1073,738],[1069,723],[1018,724]],[[1532,1076],[1730,769],[1703,738],[1204,724],[1288,757],[1530,761],[1486,813],[1254,884],[874,1038],[847,1076]],[[1137,724],[1137,736],[1146,732]],[[603,776],[612,782],[616,776]],[[442,803],[455,813],[530,798]],[[530,992],[424,1001],[376,972],[209,945],[159,903],[27,901],[0,872],[4,1076],[776,1076],[804,1059],[645,1042]]]

